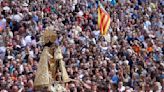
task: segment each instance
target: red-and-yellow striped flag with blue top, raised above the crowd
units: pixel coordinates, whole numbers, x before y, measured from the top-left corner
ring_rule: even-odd
[[[106,35],[110,26],[110,15],[106,12],[100,2],[98,7],[98,26],[100,28],[101,35]]]

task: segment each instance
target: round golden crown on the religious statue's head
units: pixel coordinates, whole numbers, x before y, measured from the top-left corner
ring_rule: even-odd
[[[56,33],[52,30],[49,30],[49,28],[47,28],[42,36],[41,36],[41,42],[43,45],[45,45],[46,43],[53,43],[56,40]]]

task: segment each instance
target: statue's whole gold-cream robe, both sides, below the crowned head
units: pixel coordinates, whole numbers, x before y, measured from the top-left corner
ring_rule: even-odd
[[[62,73],[62,81],[69,82],[70,78],[68,77],[65,63],[62,59],[63,56],[60,47],[56,48],[55,51],[50,47],[45,47],[40,56],[40,61],[35,75],[34,86],[50,87],[54,81],[57,81],[57,68],[59,68]]]

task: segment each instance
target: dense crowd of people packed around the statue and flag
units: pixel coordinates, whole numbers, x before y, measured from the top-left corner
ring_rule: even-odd
[[[79,80],[68,92],[164,91],[163,0],[100,0],[111,18],[106,36],[98,0],[24,1],[0,0],[1,92],[35,92],[47,27],[57,33],[70,78]]]

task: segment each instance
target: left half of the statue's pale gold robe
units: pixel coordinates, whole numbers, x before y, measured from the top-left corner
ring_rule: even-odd
[[[52,76],[49,72],[49,60],[52,58],[49,54],[49,47],[45,47],[40,56],[37,72],[35,74],[35,87],[48,87],[52,84]]]

